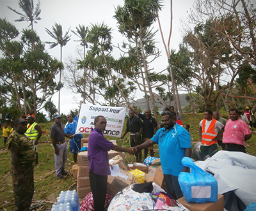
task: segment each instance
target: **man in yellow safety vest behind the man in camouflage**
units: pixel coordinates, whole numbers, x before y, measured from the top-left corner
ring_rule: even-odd
[[[38,164],[38,153],[37,153],[37,145],[38,145],[38,140],[42,136],[42,129],[41,127],[35,122],[35,118],[33,116],[28,116],[26,118],[28,120],[28,126],[27,126],[27,131],[25,133],[28,138],[33,140],[33,145],[34,149],[36,151],[36,162],[35,165]]]

